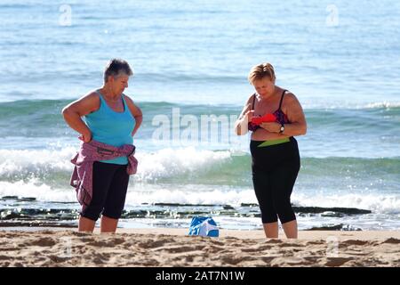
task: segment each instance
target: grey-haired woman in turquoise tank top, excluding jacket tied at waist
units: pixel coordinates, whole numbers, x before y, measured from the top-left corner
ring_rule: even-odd
[[[95,140],[115,147],[133,143],[133,136],[142,122],[142,113],[124,94],[132,74],[128,62],[120,59],[108,61],[104,85],[62,110],[68,125],[81,134],[80,140]],[[127,164],[126,157],[93,163],[92,199],[80,213],[80,232],[92,232],[100,214],[100,231],[116,232],[129,182]]]

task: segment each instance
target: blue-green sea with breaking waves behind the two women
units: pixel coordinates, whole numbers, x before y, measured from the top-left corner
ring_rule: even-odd
[[[260,227],[258,208],[243,206],[256,203],[249,138],[231,130],[253,92],[249,69],[270,61],[308,119],[292,195],[300,228],[400,228],[397,2],[63,4],[0,3],[3,222],[21,221],[22,212],[40,220],[33,209],[44,208],[75,223],[68,159],[79,142],[60,110],[99,87],[105,62],[122,57],[135,73],[125,94],[144,112],[123,226],[187,226],[197,213],[222,227]],[[209,129],[203,117],[220,125]],[[160,119],[173,140],[155,140]]]

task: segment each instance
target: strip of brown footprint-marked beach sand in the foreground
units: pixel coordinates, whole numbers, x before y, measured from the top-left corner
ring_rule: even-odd
[[[0,266],[400,266],[400,232],[300,231],[299,240],[267,240],[261,231],[186,229],[3,228]]]

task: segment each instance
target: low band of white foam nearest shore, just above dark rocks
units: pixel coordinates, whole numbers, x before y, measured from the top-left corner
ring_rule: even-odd
[[[0,182],[0,197],[32,197],[39,201],[74,202],[76,194],[72,187],[52,188],[35,179],[28,182]],[[196,205],[231,205],[238,207],[242,203],[257,204],[252,188],[232,186],[212,186],[199,184],[130,184],[126,198],[127,206],[142,203],[174,203]],[[292,203],[300,207],[322,208],[361,208],[374,214],[400,214],[400,195],[380,193],[354,194],[310,194],[295,192]]]

